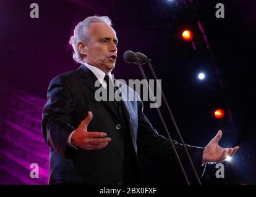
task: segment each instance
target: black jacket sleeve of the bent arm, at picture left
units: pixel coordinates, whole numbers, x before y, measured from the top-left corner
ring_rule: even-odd
[[[70,125],[73,111],[74,97],[68,83],[61,76],[56,76],[48,87],[42,132],[48,146],[57,150],[64,158],[71,157],[76,151],[67,143],[70,133],[75,130]]]

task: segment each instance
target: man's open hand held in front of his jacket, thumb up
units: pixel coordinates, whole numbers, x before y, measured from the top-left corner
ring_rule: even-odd
[[[105,132],[87,131],[88,124],[92,120],[93,115],[88,111],[87,117],[75,129],[71,138],[71,143],[75,147],[80,147],[85,150],[96,150],[106,147],[111,138],[106,137]]]

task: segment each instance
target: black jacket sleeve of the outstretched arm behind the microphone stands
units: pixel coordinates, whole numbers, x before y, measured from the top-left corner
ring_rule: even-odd
[[[171,147],[170,140],[161,135],[158,135],[158,132],[153,129],[150,121],[148,121],[148,118],[143,114],[142,101],[138,102],[138,116],[139,126],[137,145],[139,154],[161,167],[179,171],[181,168],[177,162],[174,150]],[[182,165],[185,169],[189,168],[188,170],[192,172],[192,169],[189,166],[189,160],[187,159],[186,151],[184,150],[184,146],[181,143],[177,143],[175,140],[173,140],[173,143],[177,150],[177,154],[181,159]],[[205,165],[202,166],[202,155],[204,148],[189,145],[186,145],[186,147],[198,175],[203,175],[205,170]]]

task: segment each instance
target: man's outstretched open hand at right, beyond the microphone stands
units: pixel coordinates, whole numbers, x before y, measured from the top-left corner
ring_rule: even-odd
[[[218,134],[205,147],[205,150],[203,150],[203,163],[220,163],[224,161],[227,158],[227,156],[233,156],[239,149],[238,146],[234,148],[221,148],[218,145],[221,136],[222,131],[220,130]]]

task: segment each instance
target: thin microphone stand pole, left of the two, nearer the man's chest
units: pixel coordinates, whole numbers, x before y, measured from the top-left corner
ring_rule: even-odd
[[[142,69],[142,66],[140,65],[140,62],[139,62],[139,59],[138,59],[138,58],[136,58],[136,63],[139,65],[140,72],[142,73],[143,78],[147,80],[147,78],[146,78],[146,76],[145,76],[145,73],[144,73],[144,71],[143,71],[143,69]],[[149,92],[150,92],[151,97],[153,98],[153,93],[152,93],[152,90],[151,90],[151,87],[150,87],[150,86],[148,86],[148,90],[149,90]],[[163,92],[162,92],[162,95],[163,95]],[[176,156],[177,161],[178,161],[178,163],[179,163],[179,166],[181,167],[182,174],[184,175],[184,177],[185,177],[185,179],[186,179],[187,185],[190,185],[189,179],[187,179],[186,172],[185,172],[185,170],[184,170],[184,167],[182,166],[181,159],[179,158],[179,155],[177,154],[177,150],[176,150],[176,148],[174,147],[173,140],[171,139],[171,136],[170,136],[170,134],[169,134],[169,131],[168,131],[167,127],[166,127],[166,124],[165,124],[165,122],[164,122],[164,119],[163,119],[163,116],[162,116],[162,114],[161,114],[161,111],[159,110],[158,107],[156,108],[156,110],[157,110],[157,112],[158,112],[158,115],[160,116],[160,119],[161,119],[162,123],[163,123],[163,126],[164,126],[164,129],[165,129],[165,131],[166,131],[166,134],[168,135],[168,138],[169,138],[169,140],[170,140],[170,142],[171,142],[171,147],[173,148],[174,153],[175,153],[175,156]],[[185,146],[185,148],[186,148],[186,145],[184,145],[184,146]],[[199,181],[200,181],[200,180],[199,180]]]

